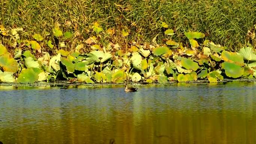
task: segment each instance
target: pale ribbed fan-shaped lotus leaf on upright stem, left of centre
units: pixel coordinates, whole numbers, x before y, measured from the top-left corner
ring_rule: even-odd
[[[110,53],[104,53],[103,51],[92,51],[88,53],[88,58],[86,60],[88,61],[89,64],[92,64],[94,62],[105,62],[108,59],[112,58],[112,55]]]

